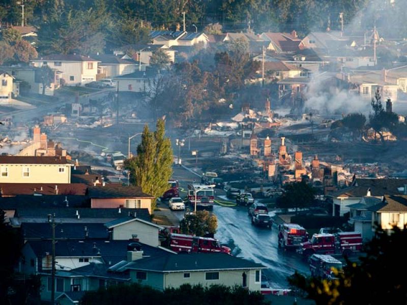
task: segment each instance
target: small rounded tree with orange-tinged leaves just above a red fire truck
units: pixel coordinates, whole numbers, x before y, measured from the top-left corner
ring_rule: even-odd
[[[207,210],[197,211],[196,214],[186,214],[180,222],[180,230],[183,234],[205,236],[215,234],[218,220],[214,214]]]

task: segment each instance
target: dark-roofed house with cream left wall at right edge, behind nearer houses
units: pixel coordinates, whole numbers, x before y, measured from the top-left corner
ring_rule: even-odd
[[[349,205],[359,203],[366,196],[368,190],[370,196],[384,196],[404,194],[407,190],[407,179],[395,178],[356,178],[352,186],[327,195],[332,201],[333,216],[343,216],[350,212]],[[407,194],[407,193],[406,193]]]

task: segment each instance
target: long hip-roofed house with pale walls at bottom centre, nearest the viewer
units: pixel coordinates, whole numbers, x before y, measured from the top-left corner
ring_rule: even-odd
[[[226,253],[193,253],[146,257],[120,266],[117,270],[129,271],[132,282],[158,290],[178,288],[183,284],[218,284],[260,291],[261,269],[265,268]]]

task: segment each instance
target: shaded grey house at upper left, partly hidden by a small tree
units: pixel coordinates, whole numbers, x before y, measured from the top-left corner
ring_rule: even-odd
[[[11,74],[18,81],[24,81],[28,84],[29,92],[35,94],[42,94],[43,83],[41,77],[41,71],[34,67],[2,67],[2,70]],[[53,69],[54,79],[45,86],[45,95],[53,96],[54,90],[60,87],[60,77],[62,72]]]

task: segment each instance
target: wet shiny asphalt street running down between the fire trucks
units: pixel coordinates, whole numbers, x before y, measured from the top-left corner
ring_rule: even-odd
[[[173,178],[180,181],[182,188],[186,188],[187,182],[194,179],[200,181],[198,176],[179,166],[174,167]],[[181,195],[185,196],[185,193],[181,193]],[[224,192],[216,190],[216,195],[224,195]],[[222,199],[220,198],[220,200]],[[173,213],[178,219],[182,219],[182,211]],[[218,230],[215,237],[232,248],[232,255],[268,267],[263,274],[267,277],[270,287],[289,288],[286,278],[293,275],[295,270],[309,274],[306,260],[294,251],[278,249],[276,226],[273,226],[271,230],[252,226],[246,207],[215,205],[214,213],[218,218]]]

